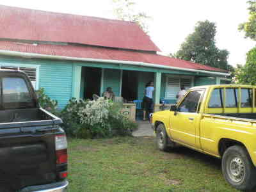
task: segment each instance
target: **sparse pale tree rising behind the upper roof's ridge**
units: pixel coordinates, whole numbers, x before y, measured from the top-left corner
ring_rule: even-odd
[[[120,20],[136,22],[140,28],[148,33],[148,20],[151,19],[145,12],[136,11],[136,3],[132,0],[113,0],[115,14]]]

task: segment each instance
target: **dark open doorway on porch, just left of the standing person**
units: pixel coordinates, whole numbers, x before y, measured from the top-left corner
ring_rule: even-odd
[[[122,77],[122,97],[129,101],[138,97],[138,72],[124,70]]]

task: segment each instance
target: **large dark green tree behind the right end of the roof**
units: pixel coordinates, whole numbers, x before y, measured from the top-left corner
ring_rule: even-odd
[[[188,35],[175,56],[182,60],[193,61],[223,69],[232,68],[228,65],[226,49],[220,50],[215,43],[216,26],[209,20],[197,22],[195,31]]]

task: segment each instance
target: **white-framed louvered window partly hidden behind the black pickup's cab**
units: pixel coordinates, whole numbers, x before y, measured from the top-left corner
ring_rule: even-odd
[[[12,69],[12,70],[22,70],[23,72],[25,72],[31,83],[33,84],[33,87],[36,88],[36,67],[16,67],[16,66],[8,66],[8,65],[2,65],[0,66],[1,69]]]

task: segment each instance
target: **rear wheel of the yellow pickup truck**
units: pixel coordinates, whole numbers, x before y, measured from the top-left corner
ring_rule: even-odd
[[[234,145],[225,150],[222,172],[227,182],[236,189],[250,190],[256,185],[256,169],[245,147]]]

